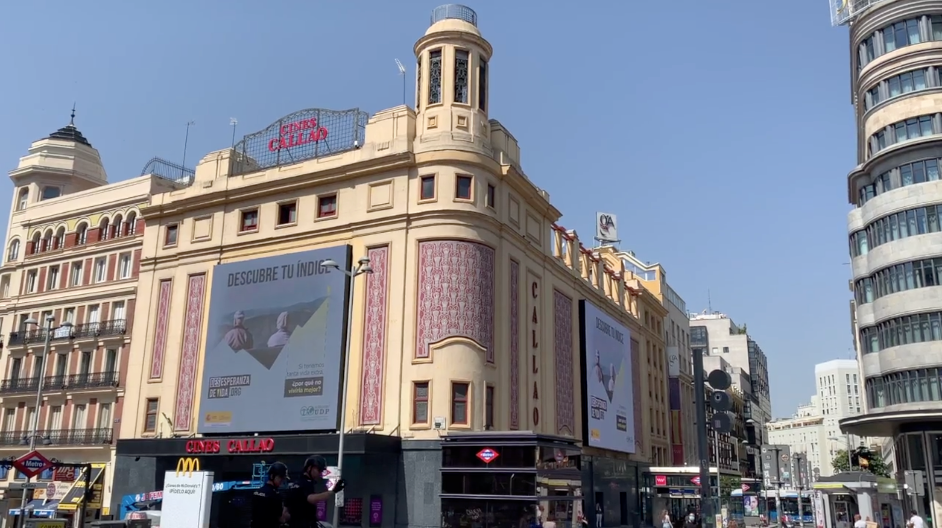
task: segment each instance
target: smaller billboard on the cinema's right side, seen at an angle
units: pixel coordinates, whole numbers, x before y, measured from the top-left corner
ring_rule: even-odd
[[[579,301],[579,321],[583,441],[592,447],[634,453],[631,333],[585,300]]]

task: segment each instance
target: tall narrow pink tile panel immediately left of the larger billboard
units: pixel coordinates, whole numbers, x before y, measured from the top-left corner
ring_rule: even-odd
[[[203,334],[203,303],[206,299],[206,275],[190,275],[187,282],[187,311],[184,315],[183,346],[180,350],[180,374],[177,378],[173,429],[187,431],[192,427],[195,403],[196,370],[200,361]]]

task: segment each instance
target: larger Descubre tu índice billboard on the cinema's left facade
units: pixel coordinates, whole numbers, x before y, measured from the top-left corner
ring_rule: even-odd
[[[213,270],[199,433],[333,430],[339,418],[347,245]]]

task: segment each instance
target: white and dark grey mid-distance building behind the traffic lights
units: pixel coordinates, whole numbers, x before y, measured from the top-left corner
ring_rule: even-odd
[[[765,424],[771,421],[771,395],[769,388],[769,368],[765,353],[758,343],[749,336],[746,326],[739,326],[722,313],[701,313],[690,315],[690,328],[703,327],[707,330],[708,355],[723,357],[735,372],[745,376],[732,375],[733,386],[743,394],[743,418],[745,419],[748,474],[758,473],[756,448],[767,442]],[[748,377],[747,377],[748,376]],[[748,380],[748,382],[747,382]]]

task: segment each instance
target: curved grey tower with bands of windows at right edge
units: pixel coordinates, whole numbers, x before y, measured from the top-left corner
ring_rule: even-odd
[[[845,2],[834,13],[851,44],[848,231],[867,399],[840,427],[895,437],[898,474],[926,471],[919,507],[934,518],[942,482],[925,461],[942,447],[942,2]]]

